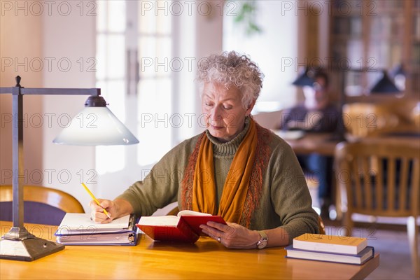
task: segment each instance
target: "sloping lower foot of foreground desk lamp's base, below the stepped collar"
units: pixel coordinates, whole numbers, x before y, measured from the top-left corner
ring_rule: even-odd
[[[25,240],[3,239],[0,241],[0,258],[32,261],[62,251],[64,247],[63,244],[38,237]]]

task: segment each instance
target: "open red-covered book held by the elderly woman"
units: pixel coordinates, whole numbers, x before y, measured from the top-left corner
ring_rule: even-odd
[[[178,216],[141,217],[137,227],[155,241],[194,243],[200,236],[204,236],[200,225],[209,221],[226,225],[221,216],[183,210],[179,211]]]

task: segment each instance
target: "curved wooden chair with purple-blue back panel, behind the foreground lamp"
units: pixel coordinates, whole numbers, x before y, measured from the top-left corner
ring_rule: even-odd
[[[24,186],[23,200],[25,223],[59,225],[66,213],[85,213],[75,197],[53,188]],[[12,201],[12,186],[0,186],[0,220],[12,221]]]

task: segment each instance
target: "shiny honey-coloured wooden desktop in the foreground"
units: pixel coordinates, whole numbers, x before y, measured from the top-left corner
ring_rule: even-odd
[[[10,222],[0,222],[1,235]],[[57,227],[27,225],[54,239]],[[42,236],[41,236],[42,235]],[[283,248],[227,249],[213,239],[195,244],[160,244],[141,236],[137,246],[66,246],[33,262],[0,260],[4,279],[363,279],[379,266],[379,254],[365,265],[285,258]]]

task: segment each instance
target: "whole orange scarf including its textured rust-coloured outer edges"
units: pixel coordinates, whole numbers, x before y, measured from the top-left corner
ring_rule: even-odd
[[[215,206],[213,146],[207,139],[206,132],[200,135],[184,170],[181,182],[181,210],[220,214],[225,221],[238,223],[239,219],[239,225],[250,228],[253,213],[260,204],[262,181],[271,154],[269,142],[272,136],[272,132],[260,127],[252,118],[250,122],[248,132],[235,153],[225,181],[219,211],[216,211]],[[204,145],[203,142],[207,144]],[[206,157],[202,159],[204,154]],[[207,162],[210,160],[211,162]],[[197,167],[199,162],[207,163],[204,167]],[[251,172],[250,169],[252,169]],[[198,186],[200,181],[202,181],[202,186]]]

